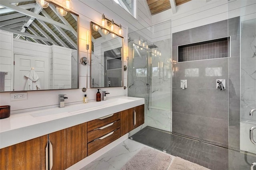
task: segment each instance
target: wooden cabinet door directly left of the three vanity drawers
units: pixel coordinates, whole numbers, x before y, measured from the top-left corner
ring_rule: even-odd
[[[52,170],[64,170],[87,156],[87,123],[49,134]]]

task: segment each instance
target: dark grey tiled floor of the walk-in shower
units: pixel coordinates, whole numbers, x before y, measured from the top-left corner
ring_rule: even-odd
[[[226,148],[172,135],[148,126],[132,135],[131,138],[212,170],[228,170],[228,149]]]

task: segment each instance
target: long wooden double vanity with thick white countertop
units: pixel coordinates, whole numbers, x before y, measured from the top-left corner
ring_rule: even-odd
[[[144,123],[144,99],[121,97],[0,120],[0,169],[66,169]]]

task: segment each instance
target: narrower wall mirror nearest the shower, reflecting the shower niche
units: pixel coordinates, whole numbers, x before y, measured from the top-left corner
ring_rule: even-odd
[[[91,88],[123,86],[123,37],[91,22]]]

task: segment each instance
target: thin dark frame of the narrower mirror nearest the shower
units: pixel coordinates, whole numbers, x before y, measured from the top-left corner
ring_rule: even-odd
[[[98,27],[100,27],[101,29],[106,29],[109,31],[109,33],[113,33],[115,34],[116,36],[122,38],[122,48],[121,48],[121,59],[122,59],[122,83],[121,83],[121,86],[112,86],[112,87],[92,87],[92,24],[94,25],[98,25]],[[109,30],[108,28],[106,27],[102,27],[101,25],[91,21],[90,22],[90,38],[91,38],[91,41],[90,41],[90,88],[113,88],[113,87],[124,87],[124,37],[122,35],[118,35],[117,33]],[[102,57],[102,56],[101,56]]]

